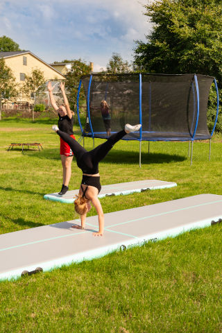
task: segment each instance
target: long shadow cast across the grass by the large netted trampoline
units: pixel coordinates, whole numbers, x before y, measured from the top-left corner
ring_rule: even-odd
[[[59,147],[43,149],[41,153],[37,154],[33,151],[25,151],[24,155],[29,155],[31,157],[37,157],[40,159],[50,159],[50,160],[60,160]],[[75,160],[75,157],[74,157]],[[142,153],[141,155],[142,164],[152,164],[152,163],[170,163],[170,162],[182,162],[187,160],[187,157],[182,155],[172,155],[163,153]],[[139,151],[122,151],[114,149],[108,153],[107,156],[101,161],[101,163],[109,164],[138,164],[139,163]]]

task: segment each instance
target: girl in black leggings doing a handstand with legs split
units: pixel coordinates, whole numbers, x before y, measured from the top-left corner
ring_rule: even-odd
[[[65,142],[67,142],[67,144],[69,144],[76,157],[78,167],[83,171],[83,179],[80,185],[79,193],[74,201],[75,210],[80,215],[81,225],[73,226],[73,228],[85,229],[85,219],[87,212],[91,209],[90,203],[92,203],[92,205],[96,208],[99,219],[99,232],[94,232],[94,236],[102,236],[104,229],[104,216],[103,208],[98,198],[98,194],[101,191],[99,162],[103,160],[114,144],[116,144],[126,134],[139,130],[141,125],[138,124],[131,126],[126,123],[125,130],[112,134],[106,142],[92,149],[92,151],[86,151],[85,148],[80,146],[75,139],[70,137],[67,133],[59,130],[58,126],[53,125],[52,128]]]

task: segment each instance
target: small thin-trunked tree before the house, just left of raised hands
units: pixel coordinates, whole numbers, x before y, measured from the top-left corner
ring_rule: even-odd
[[[40,69],[33,69],[31,74],[26,75],[24,85],[22,87],[24,94],[28,98],[33,98],[33,103],[35,102],[35,94],[44,90],[44,83],[46,79],[44,78],[43,71]],[[33,121],[34,121],[34,112],[33,112]]]

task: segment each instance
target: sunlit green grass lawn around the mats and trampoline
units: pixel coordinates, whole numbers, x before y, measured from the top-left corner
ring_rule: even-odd
[[[54,119],[0,121],[0,233],[76,219],[70,204],[44,200],[60,190],[62,167]],[[80,134],[76,126],[77,135]],[[7,151],[12,142],[43,150]],[[95,144],[103,142],[95,140]],[[85,139],[92,148],[92,139]],[[119,142],[100,164],[102,185],[142,179],[178,187],[101,199],[105,213],[196,194],[222,194],[221,136],[194,142]],[[72,166],[70,188],[80,171]],[[67,207],[69,208],[67,210]],[[93,209],[89,215],[95,215]],[[112,253],[40,275],[0,282],[0,332],[222,332],[222,225]],[[1,263],[0,263],[1,264]]]

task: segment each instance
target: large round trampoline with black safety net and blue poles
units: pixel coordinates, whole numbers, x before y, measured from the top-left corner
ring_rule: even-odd
[[[207,103],[212,84],[216,87],[217,110],[212,132],[207,127]],[[80,89],[87,103],[85,125],[79,112]],[[111,133],[125,123],[141,123],[136,133],[123,140],[139,141],[141,167],[142,141],[188,141],[191,164],[195,140],[210,139],[219,113],[216,79],[200,74],[89,74],[80,79],[77,115],[81,137],[108,139],[101,114],[101,101],[109,105]],[[149,151],[149,148],[148,148]],[[190,155],[190,154],[189,154]],[[210,158],[210,153],[209,153]]]

